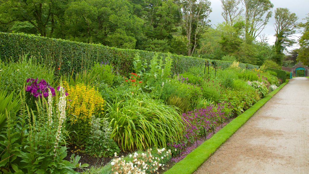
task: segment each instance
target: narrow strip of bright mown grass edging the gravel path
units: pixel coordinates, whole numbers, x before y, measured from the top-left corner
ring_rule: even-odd
[[[289,80],[280,85],[273,92],[269,93],[265,98],[260,99],[256,104],[250,107],[243,114],[236,117],[224,128],[214,134],[209,140],[205,141],[194,151],[188,154],[183,160],[176,163],[164,174],[191,174],[193,173],[206,159],[210,157],[229,137],[233,135],[246,121],[262,107],[270,98],[273,97]]]

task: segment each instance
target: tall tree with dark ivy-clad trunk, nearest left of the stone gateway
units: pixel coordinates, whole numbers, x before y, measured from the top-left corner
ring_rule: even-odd
[[[298,17],[295,13],[291,13],[287,8],[277,8],[275,10],[275,31],[276,41],[274,45],[274,51],[277,54],[275,56],[275,62],[281,65],[282,63],[282,51],[287,46],[292,46],[295,43],[293,34],[297,33]]]

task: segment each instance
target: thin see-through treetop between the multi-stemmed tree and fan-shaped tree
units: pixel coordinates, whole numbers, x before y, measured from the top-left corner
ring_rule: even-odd
[[[243,12],[243,9],[239,9],[241,0],[221,0],[221,7],[223,12],[221,15],[227,24],[233,25],[234,20],[238,19]]]

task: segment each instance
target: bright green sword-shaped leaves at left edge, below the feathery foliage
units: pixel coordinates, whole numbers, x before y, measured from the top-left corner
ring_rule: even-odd
[[[0,131],[4,126],[6,120],[6,112],[11,113],[12,115],[16,115],[20,108],[20,100],[19,97],[15,97],[13,99],[14,91],[11,94],[7,94],[6,91],[0,91]]]

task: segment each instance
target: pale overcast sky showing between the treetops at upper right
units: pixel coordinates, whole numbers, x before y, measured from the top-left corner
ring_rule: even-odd
[[[211,20],[210,24],[213,28],[215,28],[215,25],[219,22],[223,22],[224,19],[221,15],[222,13],[222,7],[221,7],[221,1],[220,0],[209,0],[211,2],[211,8],[212,12],[209,15],[209,19]],[[309,0],[270,0],[274,7],[273,7],[273,15],[271,19],[269,20],[269,23],[266,25],[262,33],[265,33],[269,40],[269,44],[273,45],[276,38],[273,36],[275,34],[275,28],[274,28],[274,11],[276,8],[288,8],[290,12],[295,13],[298,16],[298,22],[306,22],[306,20],[303,20],[305,17],[307,17],[307,14],[309,13]],[[296,36],[301,36],[301,33],[296,34]],[[296,39],[298,39],[296,37]],[[295,45],[294,48],[297,48],[298,46]],[[293,48],[290,48],[293,49]]]

